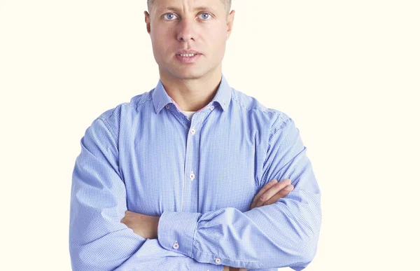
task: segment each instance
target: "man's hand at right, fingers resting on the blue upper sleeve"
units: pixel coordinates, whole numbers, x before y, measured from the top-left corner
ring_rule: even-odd
[[[293,185],[291,184],[290,179],[284,179],[282,181],[277,181],[276,179],[267,183],[255,197],[251,203],[250,210],[256,207],[261,207],[264,205],[273,204],[277,200],[286,197],[291,190],[293,190]],[[246,271],[246,268],[239,267],[229,267],[224,266],[223,271]]]

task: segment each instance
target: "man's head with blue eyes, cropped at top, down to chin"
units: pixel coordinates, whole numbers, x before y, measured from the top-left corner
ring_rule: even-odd
[[[235,17],[230,6],[231,0],[148,0],[146,27],[160,76],[197,79],[220,74]]]

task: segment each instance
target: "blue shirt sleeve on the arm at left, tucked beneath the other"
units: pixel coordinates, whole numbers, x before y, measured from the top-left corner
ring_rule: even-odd
[[[104,121],[94,120],[81,140],[71,183],[69,251],[72,270],[211,270],[144,239],[121,223],[127,210],[116,140]]]

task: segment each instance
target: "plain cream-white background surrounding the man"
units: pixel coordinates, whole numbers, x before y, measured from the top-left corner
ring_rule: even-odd
[[[307,270],[419,270],[419,1],[232,8],[223,73],[295,120],[321,186]],[[1,270],[71,270],[80,139],[158,83],[144,10],[146,0],[0,1]]]

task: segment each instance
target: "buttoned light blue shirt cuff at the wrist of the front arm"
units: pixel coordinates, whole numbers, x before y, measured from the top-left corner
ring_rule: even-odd
[[[199,213],[164,211],[158,224],[160,245],[193,258],[194,234],[200,216]]]

